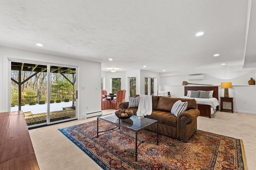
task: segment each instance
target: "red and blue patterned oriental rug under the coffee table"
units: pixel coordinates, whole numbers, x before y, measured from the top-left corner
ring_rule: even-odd
[[[114,127],[99,120],[99,131]],[[138,147],[138,162],[135,162],[133,131],[121,127],[99,133],[97,138],[97,121],[59,130],[106,170],[247,169],[242,140],[205,131],[196,131],[188,143],[159,134],[159,145],[148,140]],[[156,133],[149,130],[138,133],[138,143],[154,138]]]

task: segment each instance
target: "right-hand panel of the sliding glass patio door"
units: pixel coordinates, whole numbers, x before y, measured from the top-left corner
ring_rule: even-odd
[[[50,123],[76,117],[76,68],[50,66]]]

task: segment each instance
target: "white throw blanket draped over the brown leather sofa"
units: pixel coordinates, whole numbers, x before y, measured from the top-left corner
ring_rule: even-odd
[[[152,96],[140,95],[140,102],[137,110],[137,116],[151,115],[152,113]]]

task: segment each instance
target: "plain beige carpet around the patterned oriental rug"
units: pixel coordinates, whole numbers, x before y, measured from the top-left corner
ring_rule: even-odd
[[[114,109],[104,110],[103,114]],[[96,120],[90,117],[29,130],[40,170],[100,170],[82,150],[58,128]],[[211,119],[198,117],[198,129],[242,139],[248,170],[256,170],[256,115],[217,111]]]

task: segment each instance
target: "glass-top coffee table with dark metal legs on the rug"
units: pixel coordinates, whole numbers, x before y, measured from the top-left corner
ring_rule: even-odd
[[[135,132],[135,152],[134,152],[135,161],[137,161],[138,147],[140,146],[140,144],[142,144],[148,140],[156,140],[156,145],[158,145],[158,121],[157,120],[132,115],[132,117],[130,117],[129,119],[125,119],[125,122],[123,122],[122,119],[120,121],[120,119],[118,117],[116,117],[115,113],[111,113],[108,115],[102,115],[102,116],[97,117],[97,138],[99,137],[99,133],[110,131],[110,130],[117,128],[117,127],[115,127],[112,129],[108,129],[106,131],[99,132],[99,119],[107,121],[109,123],[112,123],[112,124],[116,125],[119,129],[120,129],[120,127],[123,127],[125,129]],[[145,129],[155,123],[156,123],[156,139],[146,139],[145,141],[141,141],[138,144],[138,138],[137,138],[138,132],[142,131],[143,129]]]

